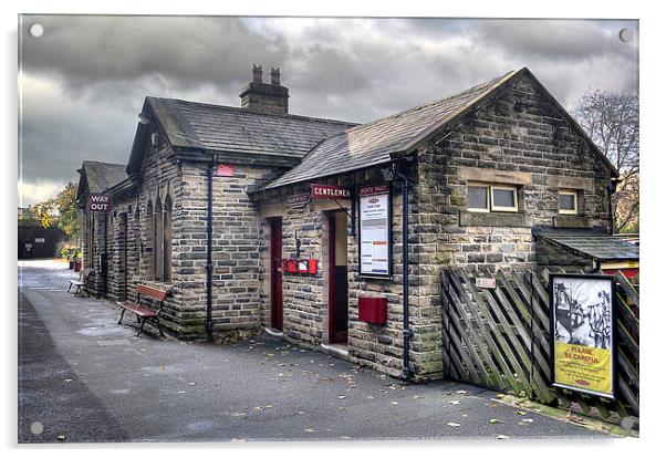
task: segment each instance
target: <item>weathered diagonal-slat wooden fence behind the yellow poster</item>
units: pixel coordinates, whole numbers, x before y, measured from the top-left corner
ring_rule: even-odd
[[[618,393],[612,402],[550,386],[549,272],[540,273],[464,269],[441,273],[443,353],[448,378],[608,420],[638,417],[636,285],[622,273],[615,274]],[[478,287],[478,278],[493,279],[495,288]]]

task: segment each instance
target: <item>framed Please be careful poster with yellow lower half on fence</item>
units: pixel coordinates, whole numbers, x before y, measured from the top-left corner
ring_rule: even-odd
[[[550,275],[552,385],[615,399],[615,281]]]

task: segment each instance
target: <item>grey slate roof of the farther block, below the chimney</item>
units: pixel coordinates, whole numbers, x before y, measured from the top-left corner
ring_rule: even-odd
[[[146,97],[171,146],[301,159],[323,138],[355,123],[275,115],[177,98]]]

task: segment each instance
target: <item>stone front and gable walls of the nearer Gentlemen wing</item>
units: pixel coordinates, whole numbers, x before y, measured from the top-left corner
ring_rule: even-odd
[[[414,379],[441,377],[441,300],[439,275],[446,266],[488,268],[535,267],[533,226],[606,226],[605,164],[549,100],[527,77],[516,81],[497,100],[462,119],[451,132],[434,136],[410,168],[416,181],[409,195],[410,368]],[[352,186],[379,183],[377,170],[316,180]],[[467,211],[469,180],[518,186],[516,214]],[[322,207],[311,202],[288,209],[284,198],[309,191],[310,184],[291,185],[257,196],[262,217],[282,216],[283,258],[293,252],[298,230],[303,252],[320,260],[315,278],[284,275],[284,335],[318,346],[327,342],[327,222]],[[580,212],[562,216],[558,189],[580,191]],[[354,362],[399,376],[402,369],[402,197],[393,188],[393,278],[358,275],[357,239],[347,237],[350,323],[348,355]],[[319,207],[318,207],[319,206]],[[270,230],[262,219],[262,322],[270,323]],[[358,296],[388,299],[388,324],[358,322]]]

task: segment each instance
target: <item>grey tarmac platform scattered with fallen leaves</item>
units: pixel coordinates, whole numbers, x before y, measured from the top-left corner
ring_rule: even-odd
[[[66,266],[19,270],[20,443],[610,437],[518,415],[478,387],[404,385],[266,334],[137,339],[113,303],[66,293]]]

